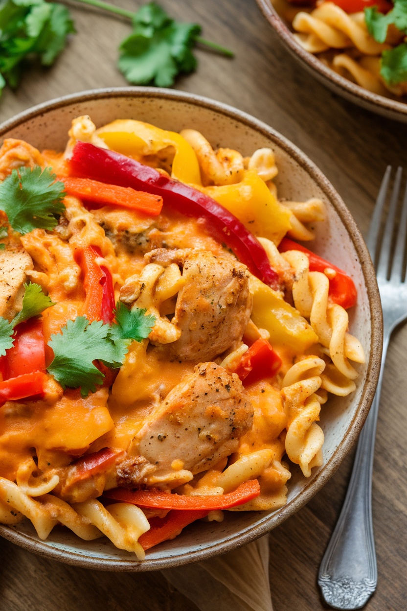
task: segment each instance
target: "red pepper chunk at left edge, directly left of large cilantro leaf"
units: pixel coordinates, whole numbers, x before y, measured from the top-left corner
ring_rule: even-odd
[[[15,327],[14,344],[0,359],[3,379],[45,371],[45,342],[40,318]]]

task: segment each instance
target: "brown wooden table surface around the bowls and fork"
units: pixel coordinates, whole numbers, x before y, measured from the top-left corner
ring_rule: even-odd
[[[134,10],[131,0],[116,4]],[[139,3],[137,3],[139,4]],[[171,15],[233,49],[234,60],[199,49],[196,73],[177,88],[232,104],[263,120],[311,157],[366,234],[386,164],[406,163],[407,125],[382,119],[326,90],[283,48],[254,0],[162,0]],[[71,5],[77,35],[50,69],[32,68],[16,93],[5,90],[0,120],[50,98],[122,86],[121,18]],[[367,611],[407,609],[407,326],[395,332],[384,375],[373,478],[378,588]],[[327,609],[317,571],[345,495],[348,457],[325,488],[270,535],[275,611]],[[196,609],[160,573],[98,573],[62,565],[0,541],[1,611]]]

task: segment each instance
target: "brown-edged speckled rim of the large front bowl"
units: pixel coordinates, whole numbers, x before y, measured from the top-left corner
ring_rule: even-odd
[[[370,260],[369,252],[367,251],[366,244],[364,243],[361,233],[359,232],[350,211],[345,206],[345,203],[339,197],[330,181],[328,181],[328,179],[315,166],[315,164],[312,163],[312,161],[306,155],[304,155],[299,148],[265,123],[251,117],[251,115],[232,108],[227,104],[191,93],[184,93],[169,89],[156,89],[153,87],[118,87],[112,89],[90,90],[73,95],[67,95],[57,98],[56,100],[51,100],[49,102],[39,104],[38,106],[34,106],[34,108],[28,109],[27,111],[16,115],[13,117],[13,119],[2,123],[0,125],[0,138],[7,133],[7,131],[17,128],[23,123],[31,119],[35,119],[35,117],[46,114],[46,112],[51,110],[53,111],[58,108],[69,106],[70,104],[109,98],[138,97],[159,98],[163,101],[170,100],[181,101],[184,103],[187,102],[193,106],[196,106],[197,108],[206,108],[217,112],[218,114],[225,115],[225,117],[236,120],[237,122],[248,126],[251,128],[251,130],[256,130],[262,136],[268,137],[272,141],[276,142],[279,147],[283,148],[283,150],[289,156],[291,156],[304,170],[306,170],[309,176],[315,181],[315,183],[317,183],[319,188],[322,189],[328,200],[333,203],[340,220],[344,224],[344,227],[347,230],[351,241],[353,242],[356,253],[358,254],[370,304],[370,332],[372,339],[370,359],[369,363],[367,364],[366,379],[361,393],[361,400],[359,401],[355,415],[344,434],[344,438],[338,445],[336,452],[334,452],[333,456],[331,456],[326,464],[321,467],[317,478],[312,480],[312,482],[307,483],[295,499],[288,502],[285,507],[276,511],[276,513],[272,513],[268,519],[263,521],[261,524],[254,524],[252,527],[249,527],[246,532],[229,536],[225,541],[209,544],[204,549],[196,550],[192,554],[188,552],[180,554],[177,557],[157,559],[149,559],[147,556],[143,562],[135,562],[134,560],[113,560],[110,558],[101,560],[100,558],[92,557],[92,555],[84,558],[81,554],[76,554],[70,551],[61,551],[54,547],[49,547],[46,541],[34,540],[30,536],[16,532],[10,527],[0,525],[1,536],[4,536],[4,538],[16,543],[28,551],[35,552],[48,558],[53,558],[54,560],[59,560],[60,562],[65,562],[71,565],[82,566],[90,569],[99,569],[103,571],[152,571],[204,560],[206,558],[210,558],[211,556],[231,551],[232,549],[235,549],[243,544],[250,543],[250,541],[265,535],[267,532],[296,513],[314,496],[316,492],[318,492],[325,485],[326,481],[328,481],[334,474],[342,459],[344,459],[345,455],[355,443],[358,434],[361,431],[362,425],[366,420],[370,404],[372,403],[375,394],[380,371],[380,354],[383,343],[381,304],[376,284],[375,271],[373,269],[372,261]]]

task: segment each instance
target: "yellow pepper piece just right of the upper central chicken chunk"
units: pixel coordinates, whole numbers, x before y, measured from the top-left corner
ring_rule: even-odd
[[[289,346],[301,353],[318,342],[311,325],[276,291],[253,276],[250,291],[253,295],[251,320],[259,329],[267,329],[273,345]]]

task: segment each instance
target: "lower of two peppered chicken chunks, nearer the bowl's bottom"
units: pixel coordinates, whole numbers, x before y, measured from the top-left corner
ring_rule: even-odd
[[[129,450],[140,458],[135,479],[179,485],[180,472],[200,473],[235,452],[252,422],[253,407],[236,373],[215,363],[196,365],[135,435]]]

